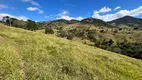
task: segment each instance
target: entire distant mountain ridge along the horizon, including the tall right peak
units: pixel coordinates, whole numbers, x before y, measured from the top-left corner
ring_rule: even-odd
[[[105,22],[101,19],[96,18],[85,18],[83,20],[65,20],[65,19],[59,19],[59,20],[53,20],[53,21],[44,21],[44,23],[51,23],[59,26],[64,26],[68,24],[74,24],[74,23],[81,23],[81,24],[92,24],[94,26],[104,26],[104,27],[117,27],[118,25],[127,25],[129,27],[142,27],[142,19],[141,18],[135,18],[132,16],[124,16],[109,22]],[[64,25],[61,25],[64,24]]]

